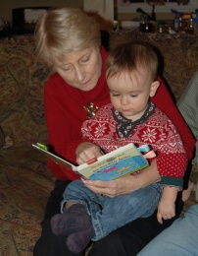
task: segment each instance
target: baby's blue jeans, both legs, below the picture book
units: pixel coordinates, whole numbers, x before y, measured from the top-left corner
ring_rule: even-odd
[[[124,224],[151,216],[161,194],[160,186],[152,184],[128,195],[112,198],[93,193],[80,180],[76,180],[67,186],[63,194],[61,212],[64,212],[67,201],[84,204],[95,230],[92,240],[97,241]]]

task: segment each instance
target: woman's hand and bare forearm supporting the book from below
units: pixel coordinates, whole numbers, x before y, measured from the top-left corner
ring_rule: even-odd
[[[102,180],[84,180],[84,185],[91,191],[103,194],[109,197],[126,195],[139,188],[146,187],[154,182],[159,181],[160,175],[157,169],[156,160],[151,165],[141,170],[139,174],[126,175],[111,181]]]

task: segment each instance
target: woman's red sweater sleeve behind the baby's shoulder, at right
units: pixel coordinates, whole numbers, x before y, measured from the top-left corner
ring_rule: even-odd
[[[159,81],[161,82],[161,86],[159,87],[156,96],[151,97],[151,101],[154,102],[158,108],[160,108],[172,119],[173,124],[176,126],[176,129],[181,136],[188,160],[191,160],[194,155],[195,139],[176,105],[174,104],[173,98],[170,95],[165,83],[160,77]]]

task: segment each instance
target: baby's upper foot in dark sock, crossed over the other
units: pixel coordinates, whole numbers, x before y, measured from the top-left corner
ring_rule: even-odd
[[[70,235],[74,232],[86,230],[92,226],[91,218],[82,204],[75,204],[64,214],[55,215],[51,219],[52,231],[56,235]]]

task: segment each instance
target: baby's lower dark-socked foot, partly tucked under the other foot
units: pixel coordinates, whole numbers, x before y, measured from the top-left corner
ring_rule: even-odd
[[[75,232],[68,236],[66,241],[67,247],[72,252],[79,253],[86,248],[94,234],[93,226],[88,227],[86,230]]]

